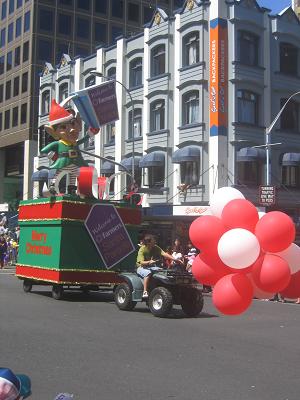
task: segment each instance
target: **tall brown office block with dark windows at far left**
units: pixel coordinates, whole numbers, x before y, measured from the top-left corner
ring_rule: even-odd
[[[39,72],[63,53],[85,57],[98,45],[143,29],[153,10],[180,0],[0,0],[0,204],[32,197]]]

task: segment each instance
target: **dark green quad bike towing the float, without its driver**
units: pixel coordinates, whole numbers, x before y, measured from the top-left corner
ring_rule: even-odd
[[[146,301],[155,317],[161,318],[170,314],[173,304],[181,305],[188,317],[196,317],[203,309],[200,285],[188,272],[174,269],[153,272],[147,299],[142,297],[143,279],[136,273],[122,273],[119,276],[124,280],[115,289],[115,303],[120,310],[131,311],[142,301]]]

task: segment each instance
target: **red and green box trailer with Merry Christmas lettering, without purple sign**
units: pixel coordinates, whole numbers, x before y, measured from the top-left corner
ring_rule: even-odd
[[[51,285],[60,299],[65,289],[84,292],[114,288],[122,282],[120,272],[134,271],[136,251],[108,268],[86,227],[93,206],[113,205],[125,225],[131,243],[138,243],[141,209],[126,202],[82,199],[62,195],[20,203],[20,242],[16,276],[25,292],[33,285]],[[103,206],[103,207],[102,207]],[[115,243],[116,249],[120,243]]]

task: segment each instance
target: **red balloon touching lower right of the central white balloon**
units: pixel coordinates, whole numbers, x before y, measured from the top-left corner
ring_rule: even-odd
[[[283,258],[275,254],[266,254],[263,262],[252,268],[252,277],[259,289],[278,293],[289,284],[291,271]]]

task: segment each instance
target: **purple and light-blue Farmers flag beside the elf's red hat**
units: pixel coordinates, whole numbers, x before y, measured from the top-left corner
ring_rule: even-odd
[[[104,82],[72,95],[81,118],[89,127],[99,128],[119,119],[116,82]]]

